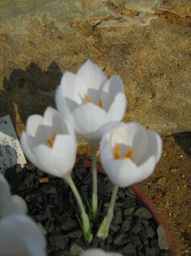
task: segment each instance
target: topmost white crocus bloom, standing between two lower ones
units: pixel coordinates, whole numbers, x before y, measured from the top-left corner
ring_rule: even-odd
[[[119,76],[107,80],[102,70],[87,61],[77,74],[66,72],[55,95],[56,106],[76,132],[91,144],[123,118],[126,98]]]

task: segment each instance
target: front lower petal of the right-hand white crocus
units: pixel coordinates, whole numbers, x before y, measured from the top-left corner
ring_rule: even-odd
[[[130,186],[140,180],[140,169],[130,158],[102,163],[111,182],[120,187]]]

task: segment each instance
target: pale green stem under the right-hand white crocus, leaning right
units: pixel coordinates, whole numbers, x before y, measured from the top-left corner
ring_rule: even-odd
[[[99,227],[99,230],[97,232],[97,236],[102,239],[106,239],[109,234],[109,226],[110,226],[111,220],[113,219],[113,209],[115,205],[117,191],[118,191],[118,186],[114,185],[107,216],[102,221]]]

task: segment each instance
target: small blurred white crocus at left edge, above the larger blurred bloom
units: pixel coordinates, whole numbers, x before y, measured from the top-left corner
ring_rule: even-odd
[[[22,197],[11,195],[9,184],[0,174],[0,219],[14,213],[27,214],[27,204]]]

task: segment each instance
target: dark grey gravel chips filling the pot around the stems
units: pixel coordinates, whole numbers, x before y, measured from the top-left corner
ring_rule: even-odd
[[[83,167],[83,160],[75,165],[72,177],[85,204],[85,196],[91,198],[92,174]],[[105,241],[95,237],[101,220],[109,207],[112,184],[108,177],[98,174],[98,198],[102,198],[100,219],[92,227],[94,239],[88,245],[82,236],[76,214],[79,206],[63,180],[43,173],[31,163],[23,169],[19,164],[7,170],[6,179],[12,193],[22,196],[28,206],[28,214],[47,232],[49,256],[77,256],[89,247],[102,247],[106,251],[124,256],[169,256],[169,245],[163,227],[152,219],[134,191],[120,188],[109,236]]]

